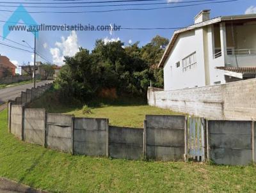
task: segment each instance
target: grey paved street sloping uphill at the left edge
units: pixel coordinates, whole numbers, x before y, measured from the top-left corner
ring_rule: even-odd
[[[44,85],[45,83],[52,82],[52,81],[42,81],[36,82],[36,86]],[[20,96],[21,91],[26,91],[26,89],[33,88],[33,83],[29,84],[22,84],[18,86],[11,86],[9,88],[2,88],[0,89],[0,105],[8,100],[15,99],[17,96]]]

